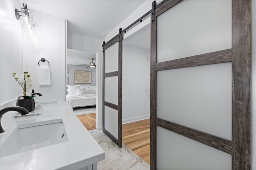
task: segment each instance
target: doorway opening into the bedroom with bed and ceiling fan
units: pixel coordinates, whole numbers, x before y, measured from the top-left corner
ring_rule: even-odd
[[[96,57],[95,52],[67,49],[66,103],[88,130],[96,129]]]

